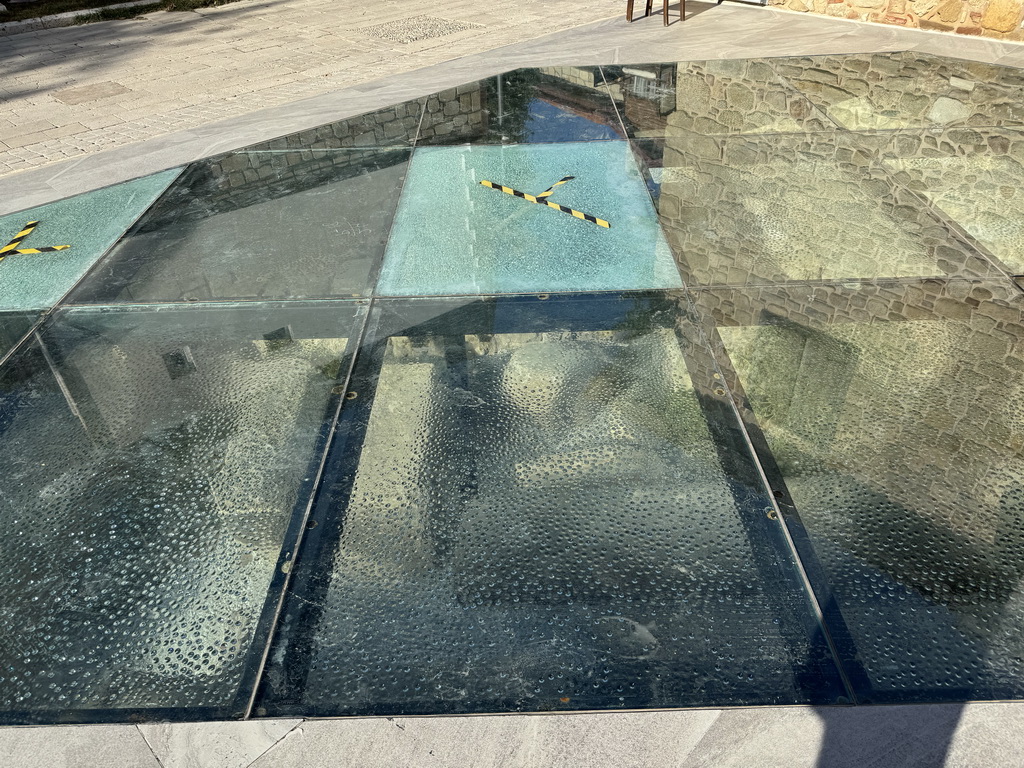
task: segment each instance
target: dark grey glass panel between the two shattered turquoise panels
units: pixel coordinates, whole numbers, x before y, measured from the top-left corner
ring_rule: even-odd
[[[236,153],[196,164],[71,300],[364,295],[409,156],[402,148]]]

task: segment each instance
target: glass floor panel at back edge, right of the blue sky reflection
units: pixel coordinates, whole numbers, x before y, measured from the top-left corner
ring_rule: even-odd
[[[768,59],[605,67],[630,138],[833,131]]]

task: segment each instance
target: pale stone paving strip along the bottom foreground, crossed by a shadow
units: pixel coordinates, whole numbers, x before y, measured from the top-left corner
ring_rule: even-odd
[[[1019,703],[0,729],[4,768],[1019,768]]]

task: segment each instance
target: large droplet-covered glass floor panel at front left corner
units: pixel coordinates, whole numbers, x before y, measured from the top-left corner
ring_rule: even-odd
[[[68,309],[13,355],[0,721],[244,714],[361,310]]]

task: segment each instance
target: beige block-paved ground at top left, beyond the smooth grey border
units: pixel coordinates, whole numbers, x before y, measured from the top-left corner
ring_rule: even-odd
[[[0,176],[617,15],[616,0],[243,0],[2,39]]]

